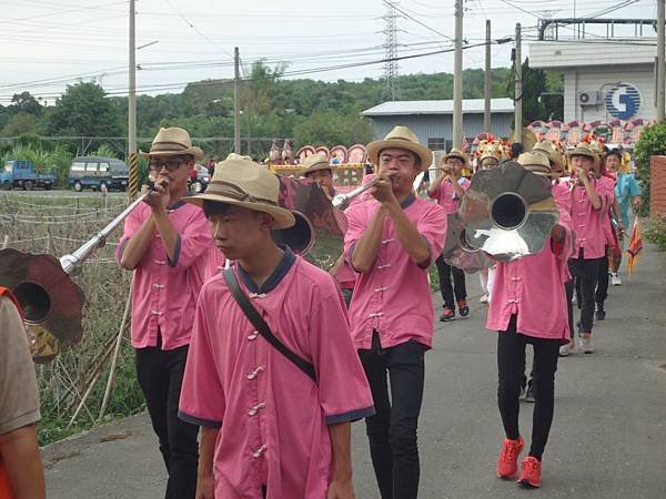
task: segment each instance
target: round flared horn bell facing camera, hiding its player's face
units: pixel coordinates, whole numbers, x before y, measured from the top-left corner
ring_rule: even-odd
[[[500,262],[542,251],[559,220],[549,179],[514,161],[476,172],[458,213],[470,245]]]

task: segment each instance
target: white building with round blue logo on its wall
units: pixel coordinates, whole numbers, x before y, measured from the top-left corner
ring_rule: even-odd
[[[529,67],[564,73],[564,122],[656,118],[656,39],[529,43]]]

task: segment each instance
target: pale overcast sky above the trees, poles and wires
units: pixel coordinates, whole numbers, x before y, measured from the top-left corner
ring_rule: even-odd
[[[627,7],[606,17],[656,13],[656,0],[468,0],[464,38],[471,44],[483,41],[488,18],[493,39],[513,35],[516,22],[534,38],[539,17],[573,17],[574,9],[578,17],[593,16],[620,4]],[[398,57],[450,49],[453,6],[454,0],[401,0]],[[24,90],[52,103],[68,83],[81,80],[95,80],[111,94],[127,93],[127,0],[0,0],[0,104]],[[245,71],[265,58],[289,63],[290,78],[380,78],[382,64],[340,65],[384,57],[386,11],[383,0],[140,0],[137,45],[157,43],[137,53],[138,91],[180,92],[189,81],[232,78],[235,45]],[[493,67],[509,64],[511,43],[494,45],[492,52]],[[483,68],[483,48],[468,49],[463,65]],[[398,62],[400,74],[452,69],[452,53]]]

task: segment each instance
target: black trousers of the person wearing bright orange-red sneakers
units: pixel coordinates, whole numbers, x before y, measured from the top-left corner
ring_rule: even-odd
[[[525,347],[534,347],[533,384],[536,394],[532,416],[529,455],[541,459],[548,440],[555,405],[555,371],[559,356],[558,339],[533,338],[516,333],[516,316],[508,329],[497,335],[497,406],[506,438],[515,440],[518,430],[521,384],[525,373]]]

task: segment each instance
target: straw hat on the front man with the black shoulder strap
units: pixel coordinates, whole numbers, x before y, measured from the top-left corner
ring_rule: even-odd
[[[233,204],[273,217],[273,228],[294,225],[294,215],[278,204],[280,181],[269,170],[253,161],[231,159],[215,165],[215,172],[203,194],[183,197],[186,203],[202,206],[204,201]]]

